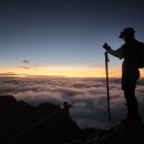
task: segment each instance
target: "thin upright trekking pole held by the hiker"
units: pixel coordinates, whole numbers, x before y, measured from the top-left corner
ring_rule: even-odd
[[[104,53],[105,55],[105,72],[106,72],[106,94],[107,94],[107,119],[111,122],[111,109],[110,109],[110,92],[109,92],[109,54],[107,52]]]

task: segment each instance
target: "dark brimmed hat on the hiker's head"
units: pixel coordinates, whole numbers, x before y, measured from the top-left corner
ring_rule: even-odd
[[[121,34],[120,34],[119,38],[123,38],[123,37],[125,37],[125,35],[134,35],[134,33],[135,33],[135,30],[134,30],[133,28],[125,28],[125,29],[121,32]]]

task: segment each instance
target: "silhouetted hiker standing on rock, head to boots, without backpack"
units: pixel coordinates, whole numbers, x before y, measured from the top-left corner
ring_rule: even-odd
[[[142,42],[135,39],[135,30],[133,28],[125,28],[120,38],[124,40],[124,44],[117,49],[112,50],[107,43],[103,48],[112,55],[124,59],[122,64],[122,90],[127,105],[126,119],[122,120],[122,124],[140,124],[141,116],[138,114],[138,103],[135,97],[135,86],[140,78],[137,50]]]

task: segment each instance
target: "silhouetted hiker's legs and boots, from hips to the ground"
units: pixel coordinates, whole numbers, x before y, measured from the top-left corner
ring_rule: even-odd
[[[127,106],[127,116],[122,120],[123,124],[140,124],[142,123],[141,116],[138,114],[138,103],[135,97],[136,82],[140,78],[140,72],[133,74],[126,74],[122,76],[122,89],[124,91],[124,96]]]

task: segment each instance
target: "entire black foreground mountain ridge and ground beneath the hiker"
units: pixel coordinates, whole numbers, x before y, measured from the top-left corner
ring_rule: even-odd
[[[0,96],[0,144],[144,144],[144,124],[81,130],[69,111]]]

